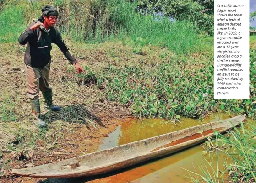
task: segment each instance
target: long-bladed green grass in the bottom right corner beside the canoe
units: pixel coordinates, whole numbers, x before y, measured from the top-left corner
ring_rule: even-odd
[[[241,128],[234,127],[234,131],[229,131],[228,136],[223,136],[217,131],[214,132],[216,139],[209,141],[209,151],[216,150],[217,165],[213,167],[211,162],[204,161],[208,164],[201,168],[201,173],[192,173],[190,178],[193,183],[225,183],[227,175],[232,183],[252,183],[256,182],[256,152],[255,152],[255,125],[241,122]],[[219,173],[218,153],[227,155],[231,163],[225,162],[225,170]],[[210,170],[209,170],[210,169]]]

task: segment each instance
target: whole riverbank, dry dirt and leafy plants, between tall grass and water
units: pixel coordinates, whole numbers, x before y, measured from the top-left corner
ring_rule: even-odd
[[[101,44],[65,40],[85,73],[76,74],[53,45],[50,85],[54,104],[62,110],[54,113],[41,107],[43,119],[49,122],[42,130],[31,122],[25,47],[17,43],[1,45],[1,177],[7,182],[13,177],[6,170],[13,167],[40,165],[98,150],[104,134],[119,125],[109,124],[111,119],[162,117],[177,123],[181,116],[202,119],[218,110],[233,115],[254,114],[255,50],[251,50],[251,99],[215,100],[210,51],[177,55],[164,47],[144,45],[136,52],[136,43],[129,40]],[[212,42],[205,40],[208,45]],[[40,99],[43,106],[41,94]]]

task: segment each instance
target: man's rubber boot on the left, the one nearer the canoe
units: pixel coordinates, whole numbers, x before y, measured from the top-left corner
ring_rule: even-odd
[[[32,115],[33,115],[33,122],[39,127],[43,128],[47,126],[47,124],[40,118],[40,103],[38,99],[30,100],[31,109],[32,109]]]

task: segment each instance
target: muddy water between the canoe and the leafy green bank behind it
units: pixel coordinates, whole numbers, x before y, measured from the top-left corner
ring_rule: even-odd
[[[100,150],[110,147],[127,144],[133,141],[162,135],[165,133],[182,130],[196,125],[228,119],[232,116],[227,114],[212,114],[203,121],[191,118],[181,118],[181,123],[174,125],[168,120],[162,119],[145,119],[145,120],[126,120],[124,124],[109,134],[109,137],[103,139],[103,144],[99,146]]]

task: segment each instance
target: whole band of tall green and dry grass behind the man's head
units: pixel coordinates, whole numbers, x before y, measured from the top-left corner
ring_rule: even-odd
[[[203,47],[191,23],[142,15],[136,12],[136,2],[125,1],[6,1],[1,10],[2,42],[16,42],[47,4],[59,11],[56,28],[78,42],[127,38],[135,41],[140,37],[144,44],[168,47],[182,54]]]

